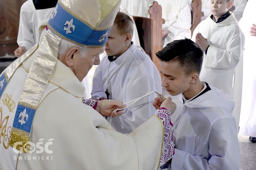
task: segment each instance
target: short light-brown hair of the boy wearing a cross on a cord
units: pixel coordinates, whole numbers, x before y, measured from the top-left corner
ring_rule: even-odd
[[[133,21],[129,15],[123,12],[117,12],[114,24],[119,30],[120,35],[125,35],[127,33],[133,35]]]

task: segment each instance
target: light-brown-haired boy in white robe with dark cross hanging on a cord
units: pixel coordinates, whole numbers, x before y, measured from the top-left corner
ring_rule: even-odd
[[[154,90],[162,92],[161,78],[156,66],[150,57],[131,41],[132,33],[131,18],[123,12],[118,12],[106,42],[107,55],[95,70],[92,98],[114,99],[125,103]],[[109,96],[106,93],[109,93]],[[112,118],[111,125],[118,132],[130,133],[154,114],[152,102],[155,96],[156,94],[153,94],[134,103],[122,116]],[[108,121],[110,119],[108,118]]]

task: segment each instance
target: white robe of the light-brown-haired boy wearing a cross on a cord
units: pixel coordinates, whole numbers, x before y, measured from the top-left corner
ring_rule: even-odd
[[[134,44],[111,62],[109,75],[123,62],[136,48]],[[92,98],[106,98],[106,72],[110,64],[105,56],[96,68],[93,78]],[[120,67],[109,80],[109,99],[128,102],[139,98],[151,91],[162,92],[160,74],[150,57],[137,49],[133,55]],[[156,94],[144,97],[142,100],[128,107],[122,116],[112,118],[114,129],[121,133],[130,133],[155,113],[152,105]],[[143,112],[142,112],[143,111]],[[108,118],[109,121],[109,118]]]

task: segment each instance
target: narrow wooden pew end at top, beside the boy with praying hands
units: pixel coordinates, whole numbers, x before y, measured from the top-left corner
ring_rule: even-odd
[[[191,2],[191,36],[193,35],[193,32],[197,25],[201,22],[201,17],[203,16],[202,13],[202,1],[201,0],[193,0]]]

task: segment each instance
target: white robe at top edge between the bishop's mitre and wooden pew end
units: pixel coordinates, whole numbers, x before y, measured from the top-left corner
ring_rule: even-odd
[[[122,0],[120,11],[132,16],[149,18],[148,10],[154,0]]]

